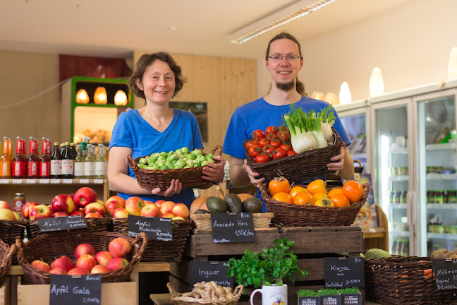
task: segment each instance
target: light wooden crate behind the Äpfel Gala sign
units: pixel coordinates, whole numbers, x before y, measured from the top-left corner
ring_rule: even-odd
[[[102,284],[102,305],[138,304],[137,282]],[[23,285],[18,278],[18,305],[49,305],[50,285]]]

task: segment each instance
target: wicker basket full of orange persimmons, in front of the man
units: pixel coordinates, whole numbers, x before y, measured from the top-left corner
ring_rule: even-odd
[[[260,184],[272,222],[282,227],[349,226],[365,205],[370,184],[347,181],[343,187],[327,186],[322,179],[306,186],[291,186],[284,177],[269,182],[268,189]]]

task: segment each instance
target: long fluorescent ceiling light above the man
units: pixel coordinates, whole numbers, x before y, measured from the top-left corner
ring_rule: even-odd
[[[234,44],[242,44],[265,32],[278,28],[286,23],[290,23],[292,20],[306,16],[313,11],[317,11],[319,8],[323,8],[335,1],[336,0],[301,0],[295,2],[276,13],[272,13],[271,15],[234,32],[229,35],[229,41]]]

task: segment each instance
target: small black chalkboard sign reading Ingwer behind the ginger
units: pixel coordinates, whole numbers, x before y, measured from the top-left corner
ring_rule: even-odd
[[[217,285],[233,288],[233,277],[227,276],[228,270],[229,267],[225,261],[190,261],[190,287],[197,282],[214,280]]]

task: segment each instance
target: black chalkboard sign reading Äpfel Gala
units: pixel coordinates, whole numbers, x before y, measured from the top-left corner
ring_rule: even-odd
[[[49,305],[102,304],[101,275],[51,275]]]

